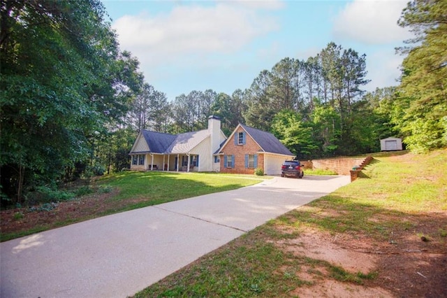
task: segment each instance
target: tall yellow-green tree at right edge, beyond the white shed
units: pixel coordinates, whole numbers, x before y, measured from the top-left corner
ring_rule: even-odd
[[[393,121],[407,147],[425,151],[447,146],[447,3],[413,0],[398,22],[416,38],[398,49],[402,63]]]

